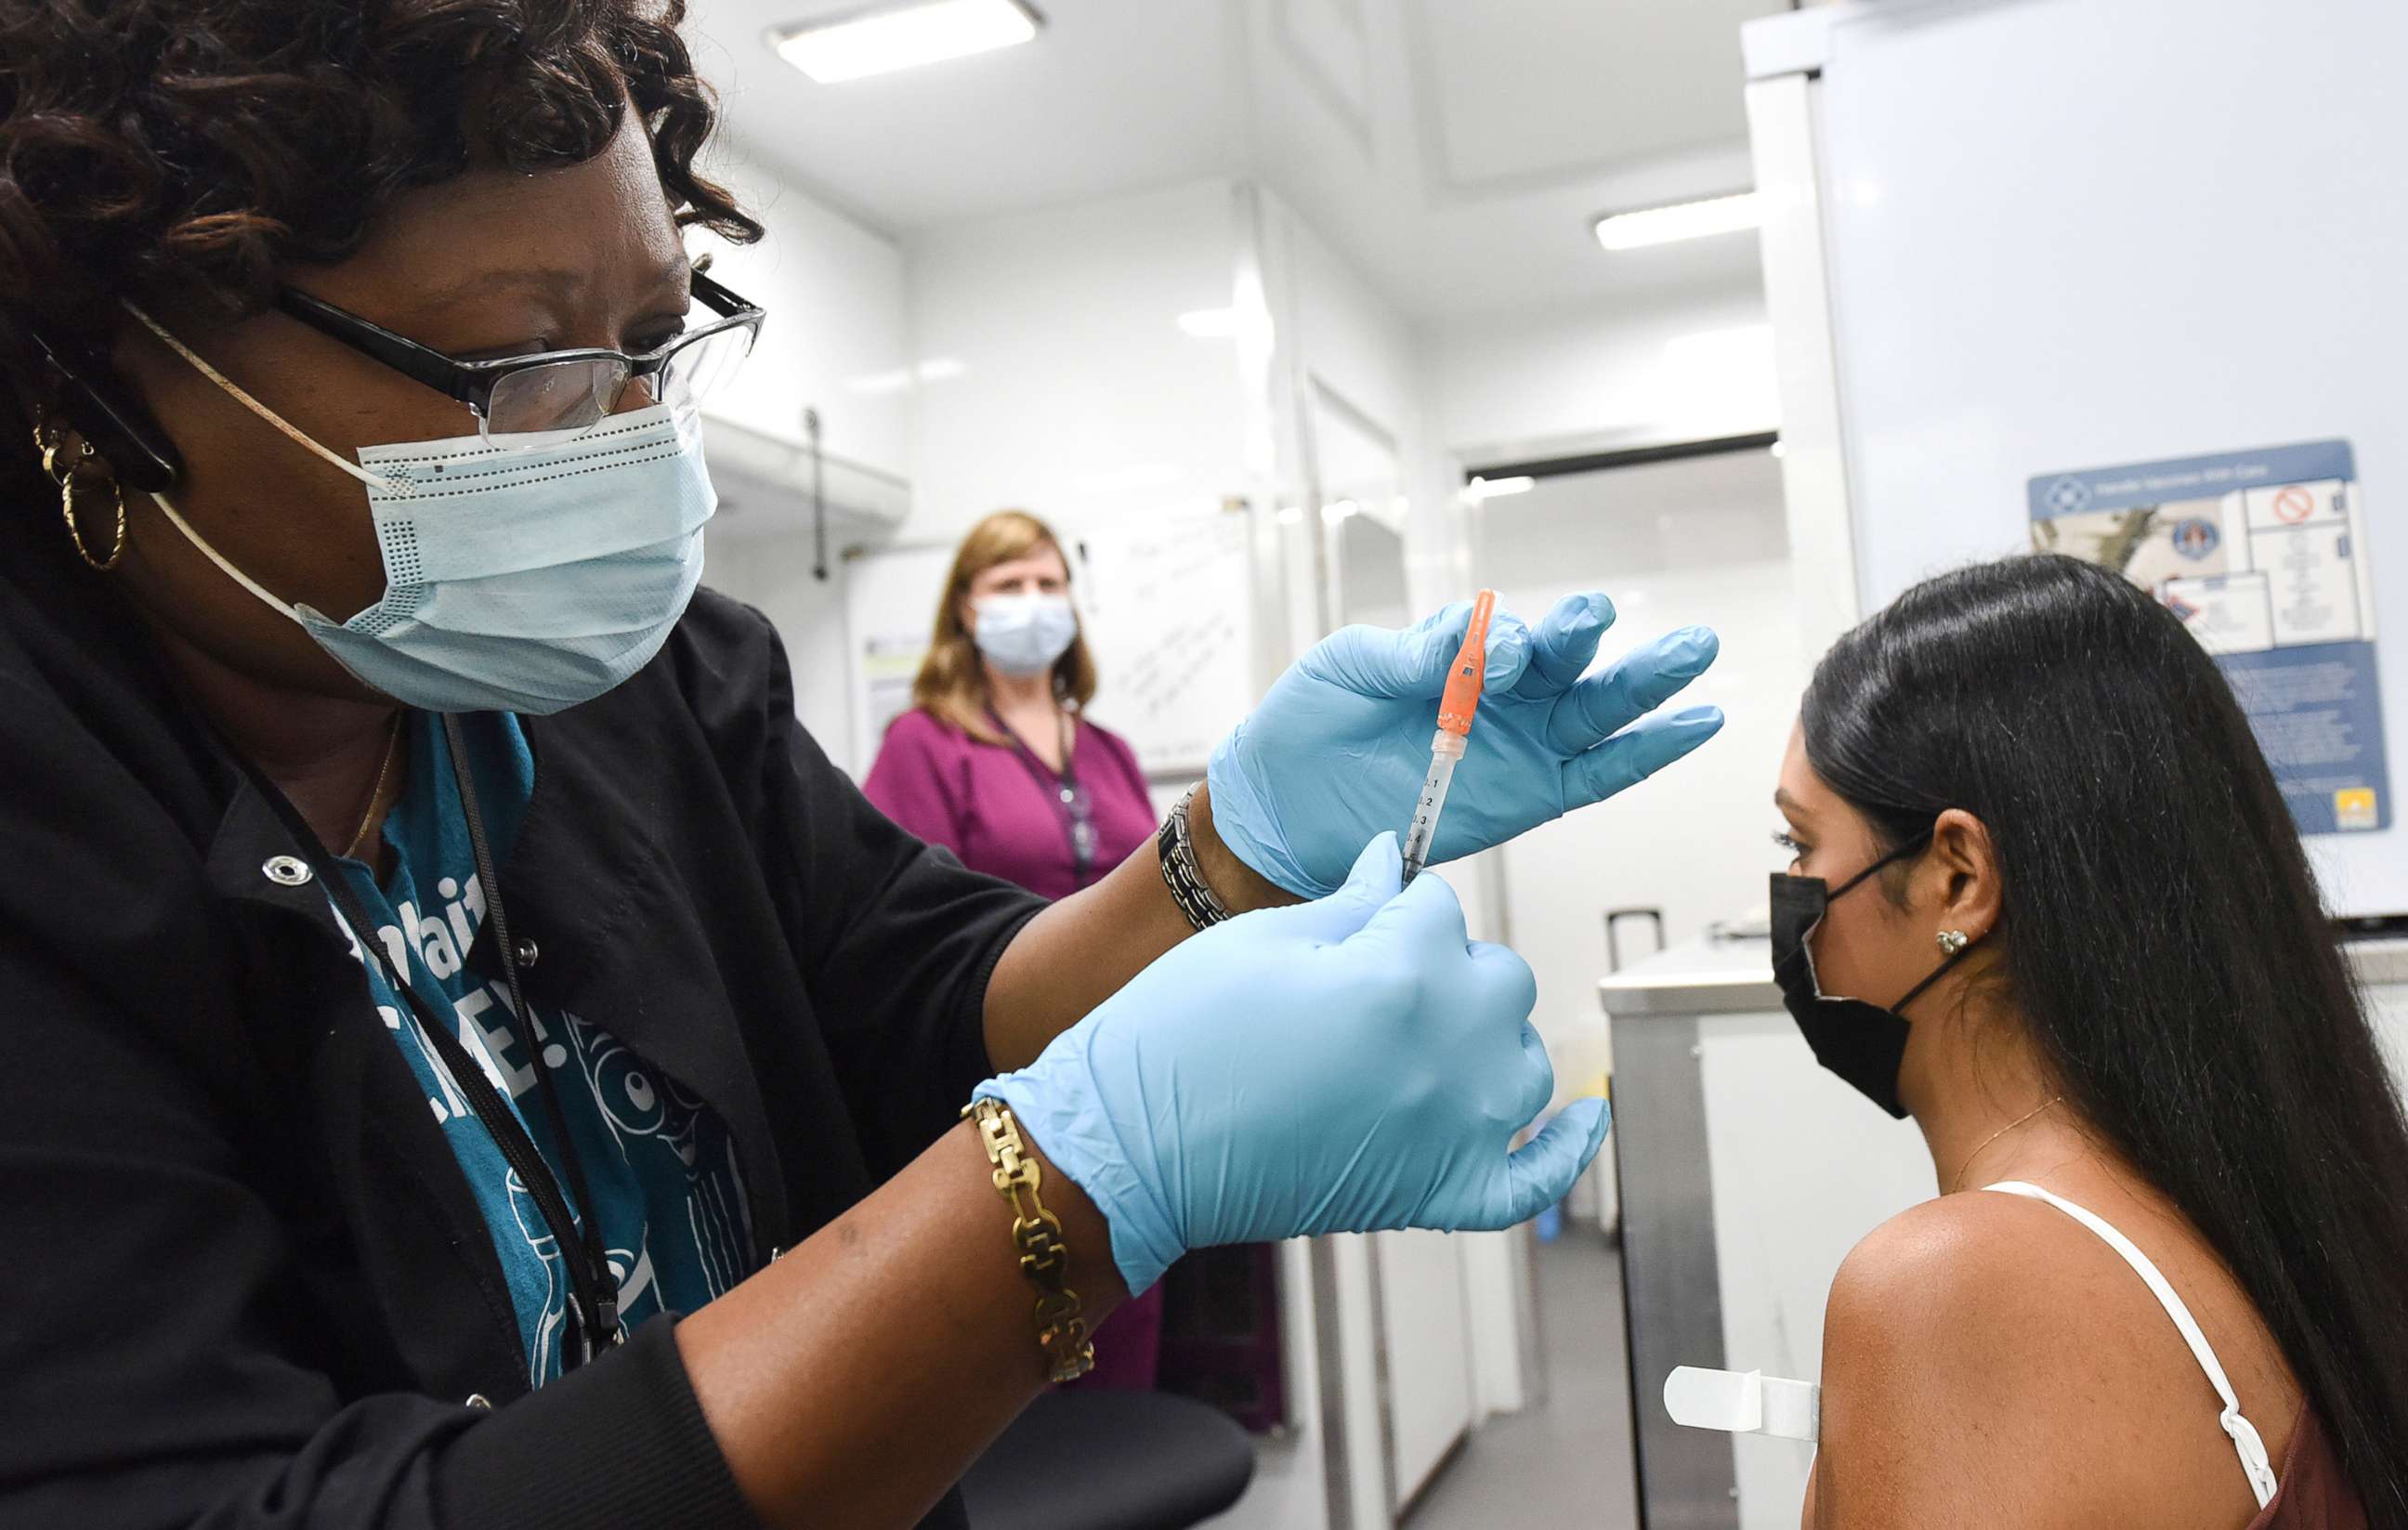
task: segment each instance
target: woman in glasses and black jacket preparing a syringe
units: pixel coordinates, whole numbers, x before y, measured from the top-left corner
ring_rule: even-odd
[[[10,14],[0,1520],[958,1523],[1180,1253],[1597,1152],[1382,834],[1462,610],[1052,906],[795,723],[696,588],[763,313],[674,5]],[[1604,619],[1491,639],[1442,855],[1714,730]]]

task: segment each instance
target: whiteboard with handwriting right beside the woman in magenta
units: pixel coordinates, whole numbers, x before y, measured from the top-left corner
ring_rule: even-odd
[[[1247,518],[1132,516],[1076,540],[1103,677],[1096,720],[1129,740],[1149,776],[1202,771],[1255,704]]]

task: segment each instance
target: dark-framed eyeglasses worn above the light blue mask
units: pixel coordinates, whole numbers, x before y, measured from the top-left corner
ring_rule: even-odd
[[[277,306],[405,378],[467,405],[484,441],[513,448],[537,446],[523,436],[549,443],[561,434],[576,439],[595,429],[619,410],[628,383],[669,407],[691,407],[708,398],[751,354],[766,313],[703,272],[694,272],[694,299],[718,318],[641,357],[566,349],[498,361],[453,361],[438,349],[291,287],[277,296]]]

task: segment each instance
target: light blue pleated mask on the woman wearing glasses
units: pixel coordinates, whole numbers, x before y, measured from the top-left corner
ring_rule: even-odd
[[[703,578],[718,508],[703,426],[665,405],[566,441],[364,446],[347,463],[135,313],[209,381],[368,487],[385,595],[349,622],[289,605],[159,508],[229,578],[301,624],[361,684],[424,711],[547,716],[660,653]]]

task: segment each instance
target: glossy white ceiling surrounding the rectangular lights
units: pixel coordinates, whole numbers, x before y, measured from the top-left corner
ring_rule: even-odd
[[[1589,219],[1748,183],[1739,24],[1789,0],[1038,0],[1035,43],[850,84],[696,0],[749,157],[896,239],[1204,176],[1269,183],[1413,318],[1755,279],[1755,241],[1609,258]]]

